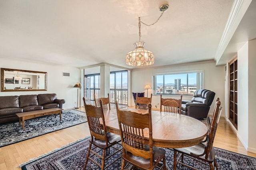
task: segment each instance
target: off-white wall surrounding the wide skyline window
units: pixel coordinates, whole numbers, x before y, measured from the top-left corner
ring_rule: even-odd
[[[147,94],[147,90],[144,89],[146,84],[149,84],[152,87],[152,74],[156,73],[173,73],[173,72],[182,72],[182,71],[204,71],[204,89],[208,89],[214,91],[216,93],[215,99],[217,97],[220,98],[222,102],[223,110],[225,111],[225,66],[216,67],[215,62],[198,62],[198,63],[188,63],[188,64],[180,64],[180,65],[170,65],[165,67],[155,67],[155,68],[146,68],[143,69],[135,69],[132,70],[132,92],[145,92],[145,96]],[[152,89],[148,89],[148,96],[152,93]],[[135,105],[132,99],[132,95],[130,95],[130,105]],[[172,96],[175,98],[175,96]],[[177,97],[178,98],[178,97]],[[192,96],[183,96],[184,100],[191,100]],[[152,106],[155,107],[157,103],[160,103],[160,95],[152,96]],[[213,104],[211,105],[209,113],[213,113]],[[157,106],[158,109],[160,106]],[[224,115],[224,114],[223,114]]]

